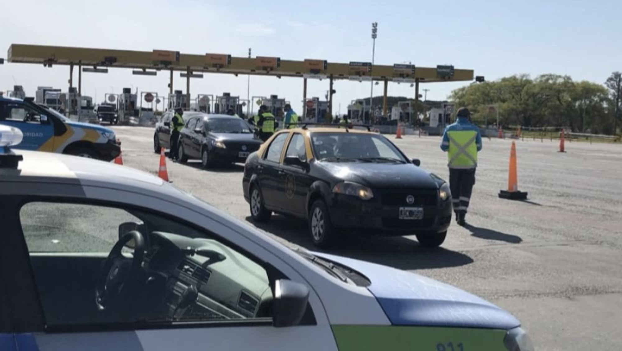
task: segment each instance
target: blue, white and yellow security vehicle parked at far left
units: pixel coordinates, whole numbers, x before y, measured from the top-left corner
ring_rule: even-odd
[[[112,129],[71,121],[52,108],[24,100],[0,97],[0,124],[20,129],[18,149],[58,152],[111,161],[121,154]]]

